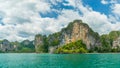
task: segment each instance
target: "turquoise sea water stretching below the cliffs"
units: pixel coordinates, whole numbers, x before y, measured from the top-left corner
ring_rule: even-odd
[[[2,53],[0,68],[120,68],[120,54]]]

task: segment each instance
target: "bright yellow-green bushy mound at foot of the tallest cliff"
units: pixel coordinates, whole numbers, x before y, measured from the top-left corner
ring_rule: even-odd
[[[86,45],[82,40],[63,45],[56,50],[56,53],[87,53]]]

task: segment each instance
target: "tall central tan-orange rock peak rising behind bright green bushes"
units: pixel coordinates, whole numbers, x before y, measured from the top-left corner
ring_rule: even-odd
[[[68,27],[62,29],[61,32],[63,44],[82,40],[86,44],[87,49],[93,48],[95,45],[99,45],[98,33],[95,33],[81,20],[75,20],[74,22],[71,22]]]

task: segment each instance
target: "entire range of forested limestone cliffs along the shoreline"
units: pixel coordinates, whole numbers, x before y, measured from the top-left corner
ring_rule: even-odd
[[[120,52],[120,31],[99,35],[82,20],[70,22],[49,36],[37,34],[33,41],[0,41],[0,52],[106,53]]]

